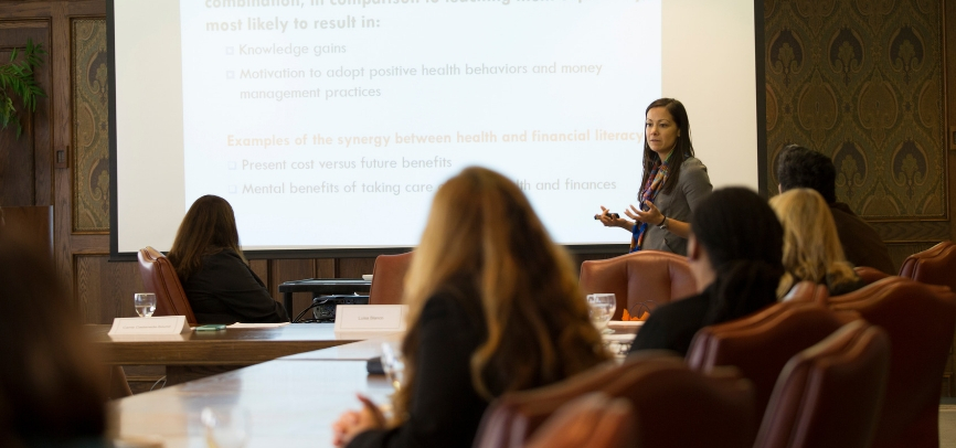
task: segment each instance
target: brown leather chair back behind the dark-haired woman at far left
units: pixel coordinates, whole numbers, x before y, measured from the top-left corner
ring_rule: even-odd
[[[179,282],[179,276],[176,275],[169,258],[150,246],[139,249],[139,275],[142,276],[146,290],[156,294],[153,316],[185,316],[189,324],[196,324],[192,306],[185,298],[182,284]]]

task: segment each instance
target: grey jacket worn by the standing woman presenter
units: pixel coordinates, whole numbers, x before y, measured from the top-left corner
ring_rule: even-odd
[[[644,185],[641,185],[644,186]],[[690,222],[698,204],[713,191],[707,167],[695,157],[684,159],[680,164],[680,179],[673,191],[665,193],[661,190],[654,200],[654,205],[668,218]],[[647,225],[642,249],[663,250],[678,255],[687,255],[687,238],[681,238],[670,231]]]

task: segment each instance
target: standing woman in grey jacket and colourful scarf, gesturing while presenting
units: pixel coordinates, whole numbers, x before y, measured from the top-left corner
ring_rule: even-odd
[[[687,255],[690,218],[713,186],[707,167],[693,154],[683,104],[660,98],[647,106],[644,124],[644,178],[637,206],[613,217],[601,207],[601,222],[631,233],[630,252],[665,250]]]

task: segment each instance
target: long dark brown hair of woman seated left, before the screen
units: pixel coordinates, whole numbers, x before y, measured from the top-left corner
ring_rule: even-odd
[[[206,194],[192,203],[176,232],[169,260],[180,280],[202,268],[202,257],[233,249],[245,262],[238,244],[235,214],[226,200]]]

